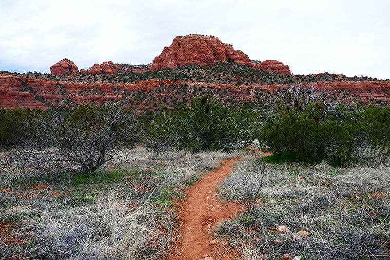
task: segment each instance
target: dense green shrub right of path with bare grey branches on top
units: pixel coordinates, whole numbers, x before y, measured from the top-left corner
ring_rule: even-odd
[[[310,92],[314,90],[301,94],[282,91],[273,111],[262,114],[263,123],[259,127],[262,147],[274,153],[293,153],[300,161],[347,163],[355,139],[353,127],[345,120],[348,116],[345,107],[312,102],[315,95]]]

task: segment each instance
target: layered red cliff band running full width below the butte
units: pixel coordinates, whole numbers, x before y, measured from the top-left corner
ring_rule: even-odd
[[[295,76],[292,76],[294,78]],[[135,97],[129,95],[129,93],[139,92],[146,93],[152,91],[153,95],[161,95],[161,97],[154,96],[156,100],[167,99],[168,91],[164,86],[176,86],[184,85],[187,83],[192,88],[216,88],[216,89],[228,89],[231,96],[227,96],[229,99],[233,98],[236,100],[243,101],[254,101],[256,98],[256,92],[262,89],[262,92],[275,91],[280,86],[276,84],[263,84],[260,82],[251,83],[250,85],[241,84],[237,85],[237,79],[232,83],[218,84],[216,82],[204,82],[204,81],[175,81],[172,80],[137,80],[133,82],[123,82],[122,80],[114,82],[104,81],[92,81],[86,80],[85,82],[79,82],[78,80],[73,81],[73,75],[65,76],[63,79],[53,79],[46,75],[34,75],[30,74],[28,77],[15,74],[0,74],[0,108],[16,108],[16,107],[29,107],[29,108],[40,108],[42,110],[47,109],[49,106],[60,106],[69,105],[71,103],[84,105],[93,103],[100,105],[103,101],[108,102],[110,100],[116,100],[122,104],[128,104],[131,102],[132,107],[135,111],[143,112],[142,104],[136,104]],[[78,77],[75,77],[79,79]],[[84,77],[86,78],[86,77]],[[340,77],[342,78],[342,77]],[[296,80],[296,79],[295,79]],[[320,89],[327,89],[330,94],[334,95],[344,91],[349,93],[347,102],[375,102],[377,100],[383,102],[390,102],[390,97],[387,95],[390,90],[390,82],[386,81],[320,81],[310,83]],[[162,86],[162,87],[161,87]],[[157,88],[161,88],[160,91],[154,92]],[[188,86],[189,93],[191,87]],[[183,92],[184,93],[184,92]],[[250,93],[250,94],[248,94]],[[180,95],[180,94],[179,94]],[[188,93],[186,92],[185,97]],[[226,98],[226,97],[225,97]],[[167,101],[156,101],[157,105],[169,106]]]

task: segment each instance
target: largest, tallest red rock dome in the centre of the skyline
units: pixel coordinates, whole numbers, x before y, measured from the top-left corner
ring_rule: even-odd
[[[164,47],[162,53],[153,60],[152,71],[186,65],[214,65],[216,61],[227,62],[229,59],[255,68],[248,55],[234,50],[232,45],[224,44],[214,36],[177,36],[171,46]]]

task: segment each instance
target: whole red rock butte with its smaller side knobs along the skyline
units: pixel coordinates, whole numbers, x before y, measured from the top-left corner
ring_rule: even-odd
[[[183,66],[208,66],[215,65],[216,62],[234,61],[243,66],[253,69],[261,69],[268,72],[279,74],[291,74],[290,68],[282,62],[276,60],[266,60],[255,65],[240,50],[234,50],[232,45],[222,43],[214,36],[205,36],[199,34],[190,34],[186,36],[177,36],[172,40],[169,47],[164,47],[159,56],[153,59],[146,69],[124,68],[121,65],[115,65],[112,61],[94,64],[88,70],[80,70],[70,60],[63,59],[50,67],[52,75],[65,75],[68,73],[85,73],[85,74],[117,74],[118,71],[145,72],[156,71],[165,68],[177,68]]]

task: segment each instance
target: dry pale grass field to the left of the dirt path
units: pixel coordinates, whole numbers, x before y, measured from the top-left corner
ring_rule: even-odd
[[[0,259],[166,258],[178,226],[173,202],[221,160],[238,156],[125,152],[137,160],[112,161],[89,175],[3,168]]]

